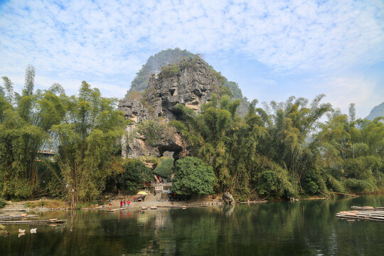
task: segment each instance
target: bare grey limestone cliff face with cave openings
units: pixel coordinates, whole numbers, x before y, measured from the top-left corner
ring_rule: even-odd
[[[126,135],[122,138],[122,156],[159,157],[165,151],[174,152],[175,159],[187,156],[187,144],[181,134],[166,124],[178,119],[180,112],[176,105],[200,112],[201,106],[210,101],[213,93],[219,95],[219,89],[220,82],[201,58],[169,65],[159,75],[153,75],[142,95],[132,94],[119,103],[119,110],[124,112],[125,118],[133,121],[126,127]],[[155,143],[149,144],[146,134],[137,132],[139,123],[146,120],[164,124],[165,128]]]

